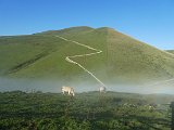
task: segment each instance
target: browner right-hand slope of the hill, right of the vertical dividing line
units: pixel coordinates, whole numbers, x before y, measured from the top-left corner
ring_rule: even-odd
[[[110,74],[136,79],[172,78],[174,55],[112,29],[108,31]]]

